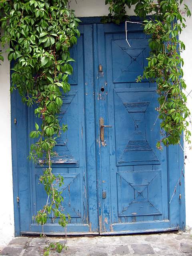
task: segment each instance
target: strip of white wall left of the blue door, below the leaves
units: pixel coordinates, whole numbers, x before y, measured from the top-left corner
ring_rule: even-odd
[[[14,236],[13,184],[11,159],[10,124],[10,64],[5,61],[0,66],[0,246]]]

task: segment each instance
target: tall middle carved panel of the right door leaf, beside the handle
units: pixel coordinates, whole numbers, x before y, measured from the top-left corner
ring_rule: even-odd
[[[115,89],[117,165],[159,164],[154,128],[156,92]],[[157,128],[159,123],[156,124]]]

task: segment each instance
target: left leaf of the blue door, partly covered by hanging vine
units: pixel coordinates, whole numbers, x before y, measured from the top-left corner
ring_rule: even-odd
[[[57,138],[57,144],[54,148],[55,156],[52,156],[53,172],[64,177],[64,186],[60,187],[59,190],[62,191],[64,197],[61,207],[71,217],[67,232],[79,234],[98,232],[98,219],[95,218],[95,215],[97,216],[95,136],[87,140],[87,136],[90,137],[91,132],[86,132],[87,122],[94,123],[94,115],[91,116],[91,121],[90,117],[86,118],[86,110],[88,113],[94,113],[94,104],[92,104],[94,101],[94,69],[93,66],[86,67],[84,64],[85,61],[93,63],[92,25],[80,26],[80,31],[81,36],[78,38],[78,44],[71,49],[71,57],[76,59],[76,62],[72,62],[74,73],[69,78],[71,90],[62,96],[63,104],[60,114],[58,114],[60,125],[67,124],[68,130]],[[86,42],[84,37],[89,38],[89,42]],[[89,47],[87,47],[88,44]],[[88,84],[90,88],[85,89]],[[88,100],[86,99],[86,90],[90,92]],[[34,117],[35,106],[34,108],[24,106],[23,109],[25,111],[23,118],[26,119],[25,134],[27,135],[25,138],[28,140],[26,143],[28,148],[24,150],[20,147],[20,150],[25,152],[25,160],[30,150],[30,144],[35,142],[29,138],[28,134],[34,130],[35,122],[40,124],[40,120]],[[94,126],[92,127],[92,132],[94,132]],[[22,137],[22,134],[20,133],[19,136]],[[42,232],[42,227],[32,220],[32,216],[42,209],[47,201],[44,186],[39,181],[43,168],[46,168],[44,162],[44,157],[36,165],[32,162],[26,162],[29,166],[29,172],[26,172],[25,169],[25,176],[22,174],[28,185],[28,198],[20,201],[21,220],[27,214],[26,208],[29,211],[29,218],[22,221],[20,225],[23,234]],[[92,174],[88,173],[89,170],[92,170]],[[27,174],[28,177],[26,177]],[[22,187],[20,187],[20,196],[23,199]],[[52,218],[52,214],[50,214],[47,224],[44,226],[44,232],[47,234],[52,232],[64,234],[65,230],[58,225],[58,219]]]

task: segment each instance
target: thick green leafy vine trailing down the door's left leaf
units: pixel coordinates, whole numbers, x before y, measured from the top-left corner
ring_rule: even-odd
[[[62,94],[70,90],[68,75],[73,72],[70,63],[74,60],[70,58],[69,48],[76,44],[76,36],[80,34],[77,29],[80,20],[67,4],[67,0],[0,1],[4,30],[1,44],[10,45],[8,60],[14,61],[11,91],[18,90],[28,106],[36,104],[35,114],[42,120],[30,132],[36,142],[31,145],[29,155],[34,162],[48,165],[40,177],[48,200],[34,216],[42,226],[51,213],[53,219],[59,218],[62,227],[70,218],[61,206],[63,197],[59,188],[64,184],[63,177],[54,175],[51,168],[56,138],[67,130],[66,125],[60,127],[58,113]],[[57,244],[56,248],[62,250]]]

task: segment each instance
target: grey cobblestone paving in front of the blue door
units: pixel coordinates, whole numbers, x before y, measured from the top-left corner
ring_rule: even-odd
[[[48,242],[64,242],[60,237],[18,237],[0,255],[40,256]],[[126,236],[86,236],[68,238],[67,250],[50,256],[192,256],[190,233],[163,233]]]

